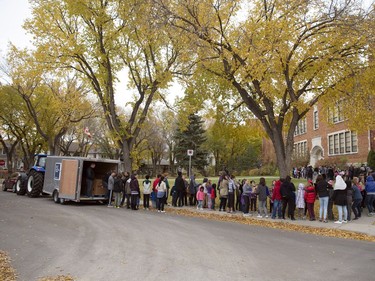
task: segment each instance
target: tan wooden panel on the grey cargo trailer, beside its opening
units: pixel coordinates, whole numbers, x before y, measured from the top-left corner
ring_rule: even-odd
[[[80,193],[80,188],[78,188],[79,160],[64,159],[61,166],[59,197],[77,200],[79,198],[77,194]]]

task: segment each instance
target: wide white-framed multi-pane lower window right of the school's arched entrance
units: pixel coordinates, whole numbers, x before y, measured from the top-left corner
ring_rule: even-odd
[[[357,132],[346,131],[328,135],[328,152],[329,155],[357,153]]]

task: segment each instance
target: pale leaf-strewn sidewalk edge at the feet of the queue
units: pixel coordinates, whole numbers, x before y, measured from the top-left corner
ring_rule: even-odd
[[[181,207],[181,208],[168,206],[168,209],[169,210],[188,210],[194,213],[211,214],[215,216],[243,217],[243,213],[241,211],[237,211],[234,213],[227,213],[227,212],[219,212],[217,210],[212,211],[208,209],[197,210],[196,208],[193,208],[190,206]],[[367,216],[367,210],[364,210],[364,212],[362,213],[362,216],[358,220],[350,221],[348,223],[343,223],[343,224],[336,224],[333,221],[328,221],[328,223],[324,223],[324,222],[320,222],[319,220],[292,221],[290,219],[286,219],[286,220],[271,219],[270,217],[269,218],[257,218],[256,215],[250,216],[248,218],[256,219],[256,220],[265,220],[265,221],[274,222],[274,223],[280,222],[280,223],[289,223],[293,225],[300,225],[300,226],[307,226],[307,227],[346,230],[346,231],[352,231],[352,232],[357,232],[357,233],[363,233],[363,234],[375,237],[375,216],[372,216],[372,217]]]

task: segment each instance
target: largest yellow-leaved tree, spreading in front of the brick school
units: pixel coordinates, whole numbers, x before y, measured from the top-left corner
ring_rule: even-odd
[[[154,0],[196,71],[217,76],[261,122],[280,176],[290,173],[299,120],[368,67],[369,17],[355,0]],[[322,100],[323,101],[323,100]]]

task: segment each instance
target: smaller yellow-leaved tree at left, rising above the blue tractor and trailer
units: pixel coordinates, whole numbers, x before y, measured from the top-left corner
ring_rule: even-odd
[[[85,84],[72,72],[39,61],[39,55],[13,46],[7,57],[7,75],[9,86],[23,99],[46,150],[56,155],[69,127],[90,118],[94,111],[86,98]]]

